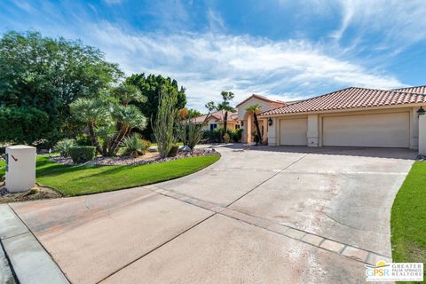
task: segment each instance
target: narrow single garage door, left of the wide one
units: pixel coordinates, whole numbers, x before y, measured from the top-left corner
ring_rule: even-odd
[[[280,145],[303,145],[308,144],[308,120],[281,119],[280,120]]]

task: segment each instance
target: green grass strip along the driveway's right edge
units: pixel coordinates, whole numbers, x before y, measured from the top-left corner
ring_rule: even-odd
[[[390,231],[393,262],[426,263],[426,162],[414,162],[399,189]]]

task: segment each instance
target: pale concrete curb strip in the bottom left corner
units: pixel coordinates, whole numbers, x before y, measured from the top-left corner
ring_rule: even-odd
[[[69,284],[58,264],[7,204],[0,205],[0,241],[20,284]]]

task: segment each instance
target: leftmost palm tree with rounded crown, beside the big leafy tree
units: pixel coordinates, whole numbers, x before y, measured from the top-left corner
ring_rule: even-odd
[[[108,107],[99,99],[76,99],[70,105],[71,113],[81,122],[85,122],[89,128],[91,144],[102,154],[102,148],[95,134],[95,128],[98,123],[104,123],[110,116]]]

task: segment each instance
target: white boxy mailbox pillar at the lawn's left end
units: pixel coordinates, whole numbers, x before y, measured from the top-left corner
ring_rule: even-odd
[[[6,189],[10,193],[26,191],[36,185],[36,147],[6,147]]]

